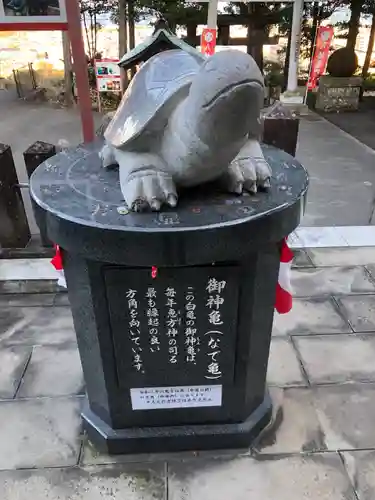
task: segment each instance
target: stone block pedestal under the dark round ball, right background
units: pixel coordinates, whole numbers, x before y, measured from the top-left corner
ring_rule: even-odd
[[[326,113],[356,111],[359,105],[362,78],[321,76],[315,108]]]

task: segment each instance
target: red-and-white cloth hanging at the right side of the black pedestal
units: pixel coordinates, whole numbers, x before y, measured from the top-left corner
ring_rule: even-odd
[[[280,255],[279,279],[276,286],[275,309],[279,314],[286,314],[292,309],[293,296],[290,281],[290,271],[293,262],[293,252],[283,240]]]

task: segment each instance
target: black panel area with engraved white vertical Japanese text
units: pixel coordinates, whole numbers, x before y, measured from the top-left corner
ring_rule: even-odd
[[[127,388],[231,383],[238,268],[109,268],[116,369]],[[126,283],[125,293],[124,284]]]

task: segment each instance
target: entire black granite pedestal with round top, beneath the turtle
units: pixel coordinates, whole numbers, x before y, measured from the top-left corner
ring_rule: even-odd
[[[209,185],[134,214],[98,147],[31,177],[37,220],[63,250],[89,437],[109,453],[249,446],[270,420],[280,243],[303,213],[305,170],[266,146],[269,192]]]

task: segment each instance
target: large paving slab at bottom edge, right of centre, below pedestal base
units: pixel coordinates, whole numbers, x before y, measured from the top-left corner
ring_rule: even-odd
[[[170,500],[356,500],[338,454],[195,460],[169,472]]]

